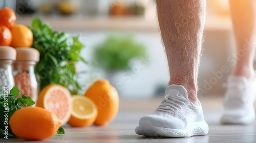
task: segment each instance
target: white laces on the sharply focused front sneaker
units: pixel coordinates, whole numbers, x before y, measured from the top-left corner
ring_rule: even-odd
[[[164,97],[161,105],[157,108],[157,111],[174,112],[178,108],[182,108],[181,105],[186,105],[187,100],[177,95],[168,95]]]

